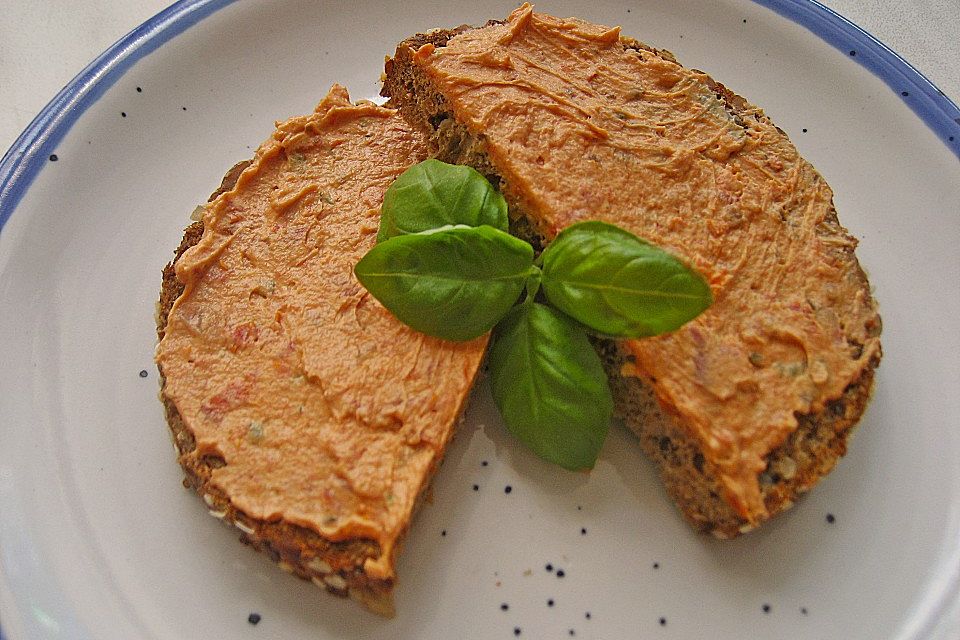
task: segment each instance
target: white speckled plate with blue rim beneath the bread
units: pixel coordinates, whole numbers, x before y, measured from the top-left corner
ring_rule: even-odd
[[[762,105],[861,239],[884,319],[875,397],[850,454],[791,512],[732,542],[696,535],[624,430],[591,475],[552,469],[504,435],[481,385],[388,621],[278,571],[181,487],[152,355],[160,268],[187,215],[274,119],[308,112],[334,81],[373,97],[402,37],[511,4],[180,3],[95,62],[4,158],[10,640],[960,634],[960,113],[806,1],[765,1],[785,15],[742,0],[542,7],[622,24]]]

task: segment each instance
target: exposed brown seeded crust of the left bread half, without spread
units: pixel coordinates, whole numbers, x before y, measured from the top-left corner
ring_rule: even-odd
[[[210,201],[232,189],[249,164],[250,161],[243,161],[234,165],[224,176],[220,188],[210,196]],[[199,242],[202,235],[202,222],[188,226],[174,259],[163,270],[157,313],[158,340],[163,339],[170,309],[184,289],[183,283],[177,278],[174,263],[184,251]],[[173,435],[177,459],[186,474],[184,486],[193,488],[203,498],[211,515],[239,529],[242,542],[269,555],[284,571],[311,580],[335,595],[350,596],[376,613],[393,615],[391,591],[394,581],[370,578],[363,569],[367,558],[380,556],[380,547],[375,541],[354,539],[332,542],[311,529],[284,521],[256,520],[234,508],[228,497],[210,483],[212,470],[223,466],[223,460],[196,453],[193,434],[184,424],[174,403],[162,391],[165,384],[162,370],[160,383],[160,398],[166,411],[167,424]]]

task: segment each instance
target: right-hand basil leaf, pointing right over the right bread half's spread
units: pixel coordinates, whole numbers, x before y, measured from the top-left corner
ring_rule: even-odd
[[[673,331],[713,301],[699,273],[605,222],[567,227],[542,258],[547,300],[610,336],[639,338]]]

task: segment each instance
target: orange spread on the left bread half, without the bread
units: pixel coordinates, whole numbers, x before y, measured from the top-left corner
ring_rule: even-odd
[[[226,461],[212,482],[234,506],[376,541],[372,577],[393,575],[487,344],[409,329],[353,275],[384,191],[425,156],[395,111],[342,87],[278,124],[177,262],[186,288],[156,356],[196,455]]]

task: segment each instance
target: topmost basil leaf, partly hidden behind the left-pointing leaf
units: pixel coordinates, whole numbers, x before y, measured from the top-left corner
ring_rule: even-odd
[[[507,230],[507,202],[470,167],[424,160],[397,178],[383,196],[377,242],[446,225]]]

